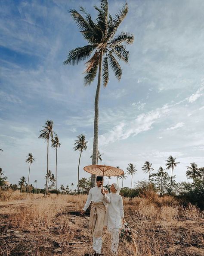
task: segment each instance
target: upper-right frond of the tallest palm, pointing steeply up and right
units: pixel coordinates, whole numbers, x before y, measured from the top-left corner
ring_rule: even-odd
[[[125,3],[122,9],[117,14],[115,14],[114,18],[112,19],[112,21],[108,26],[108,35],[107,35],[108,39],[114,36],[115,32],[117,31],[118,27],[121,25],[121,22],[124,20],[127,13],[128,13],[128,6],[127,6],[127,3]]]

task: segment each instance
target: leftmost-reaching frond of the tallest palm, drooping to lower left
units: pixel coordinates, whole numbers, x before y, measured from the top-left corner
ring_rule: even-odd
[[[95,48],[96,47],[93,45],[77,47],[69,52],[68,58],[63,62],[63,64],[78,64],[80,61],[87,59]]]

